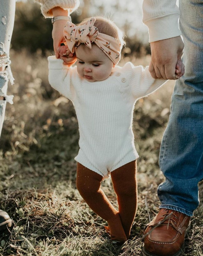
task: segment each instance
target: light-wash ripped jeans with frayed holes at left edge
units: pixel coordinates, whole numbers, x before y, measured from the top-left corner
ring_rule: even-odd
[[[0,135],[6,102],[13,104],[13,95],[7,95],[8,80],[13,84],[9,49],[15,18],[15,0],[0,0]]]

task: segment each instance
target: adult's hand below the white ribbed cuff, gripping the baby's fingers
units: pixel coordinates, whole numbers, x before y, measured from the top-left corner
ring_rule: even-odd
[[[150,45],[152,59],[149,71],[152,77],[175,80],[184,74],[185,67],[181,61],[184,43],[180,36],[151,42]]]

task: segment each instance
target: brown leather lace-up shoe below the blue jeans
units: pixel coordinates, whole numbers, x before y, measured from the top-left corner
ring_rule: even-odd
[[[184,250],[185,233],[190,227],[190,217],[178,211],[160,209],[157,216],[147,224],[145,234],[159,221],[162,221],[171,212],[161,225],[156,227],[144,238],[143,256],[181,256]]]

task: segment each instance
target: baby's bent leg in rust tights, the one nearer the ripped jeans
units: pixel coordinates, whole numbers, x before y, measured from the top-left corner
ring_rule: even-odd
[[[112,206],[103,190],[101,190],[102,176],[82,164],[77,164],[76,186],[82,198],[89,207],[102,219],[108,222],[111,239],[126,241],[119,212]]]

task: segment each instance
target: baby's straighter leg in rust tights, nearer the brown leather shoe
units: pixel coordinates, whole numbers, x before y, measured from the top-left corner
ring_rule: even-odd
[[[112,171],[113,188],[117,194],[119,214],[127,239],[137,210],[136,160]]]

